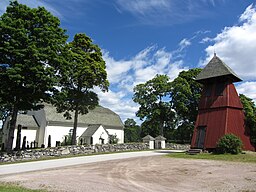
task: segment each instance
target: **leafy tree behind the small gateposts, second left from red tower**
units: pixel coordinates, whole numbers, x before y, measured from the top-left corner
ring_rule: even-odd
[[[150,131],[152,135],[163,135],[164,127],[170,119],[172,121],[173,111],[166,100],[170,90],[171,84],[167,75],[156,75],[153,79],[134,88],[133,101],[140,105],[136,115],[145,122],[155,122],[157,131],[155,133]]]

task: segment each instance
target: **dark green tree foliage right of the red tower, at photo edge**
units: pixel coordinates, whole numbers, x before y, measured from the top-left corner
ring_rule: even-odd
[[[256,147],[256,105],[252,99],[239,95],[245,114],[245,125],[250,135],[251,143]]]

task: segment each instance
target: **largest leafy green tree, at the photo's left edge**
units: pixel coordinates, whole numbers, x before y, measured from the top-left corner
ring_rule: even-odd
[[[10,106],[7,150],[12,149],[17,114],[38,109],[55,84],[55,67],[67,40],[60,21],[43,7],[10,2],[0,17],[1,106]]]

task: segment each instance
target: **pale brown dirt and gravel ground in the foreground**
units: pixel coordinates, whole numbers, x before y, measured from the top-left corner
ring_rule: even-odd
[[[256,192],[256,164],[155,156],[7,175],[0,181],[69,192]]]

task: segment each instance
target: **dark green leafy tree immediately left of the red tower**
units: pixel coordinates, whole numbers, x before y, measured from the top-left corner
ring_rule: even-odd
[[[198,114],[202,85],[195,81],[202,69],[182,71],[172,82],[171,104],[176,111],[177,129],[175,139],[190,141]]]

